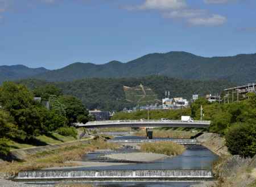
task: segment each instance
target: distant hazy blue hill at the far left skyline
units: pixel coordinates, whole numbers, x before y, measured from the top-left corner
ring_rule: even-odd
[[[6,80],[24,79],[36,74],[46,73],[47,69],[29,68],[23,65],[0,66],[0,84]]]

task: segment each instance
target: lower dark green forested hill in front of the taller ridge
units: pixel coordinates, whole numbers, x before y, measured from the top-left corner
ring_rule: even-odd
[[[27,79],[20,83],[31,89],[49,84],[43,80]],[[165,91],[170,91],[171,97],[191,99],[192,94],[205,95],[220,93],[224,88],[233,86],[224,80],[195,81],[169,78],[167,76],[147,76],[142,78],[88,78],[73,82],[55,82],[64,94],[73,95],[82,100],[89,109],[105,109],[120,111],[124,107],[134,107],[135,103],[126,100],[123,86],[135,87],[139,84],[150,87],[158,95],[164,97]],[[153,104],[153,103],[152,103]]]

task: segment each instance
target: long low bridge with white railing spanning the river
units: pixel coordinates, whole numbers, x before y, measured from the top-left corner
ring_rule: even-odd
[[[76,127],[84,128],[209,128],[210,121],[181,120],[109,120],[90,121],[86,124],[76,123]]]

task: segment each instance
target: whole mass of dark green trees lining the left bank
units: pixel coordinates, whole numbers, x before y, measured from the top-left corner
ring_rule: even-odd
[[[49,101],[47,109],[33,97]],[[35,143],[35,137],[50,135],[56,131],[61,135],[76,138],[77,131],[73,122],[90,120],[88,111],[81,100],[74,96],[63,95],[52,84],[28,90],[23,84],[5,82],[0,87],[0,154],[7,155],[8,141]]]

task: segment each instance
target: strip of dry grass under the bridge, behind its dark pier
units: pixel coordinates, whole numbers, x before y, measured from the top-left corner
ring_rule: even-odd
[[[198,132],[197,131],[181,131],[181,130],[153,130],[153,137],[158,137],[158,138],[185,138],[189,139],[192,136],[196,135]],[[139,137],[145,137],[146,136],[146,131],[141,130],[134,135],[137,135]]]

